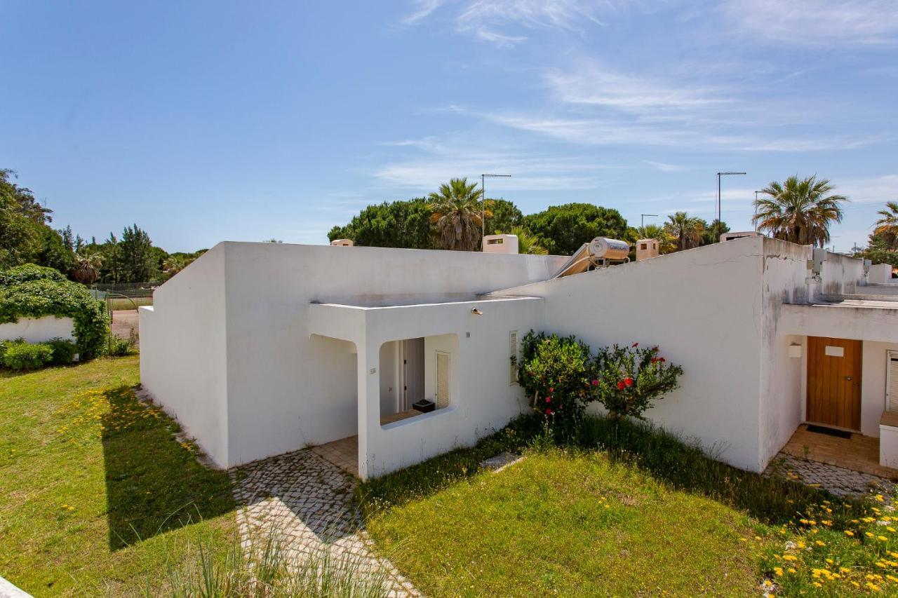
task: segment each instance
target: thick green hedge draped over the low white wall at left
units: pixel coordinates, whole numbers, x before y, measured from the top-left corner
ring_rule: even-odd
[[[43,316],[72,318],[80,359],[102,355],[109,336],[106,306],[87,287],[33,264],[0,272],[0,324]]]

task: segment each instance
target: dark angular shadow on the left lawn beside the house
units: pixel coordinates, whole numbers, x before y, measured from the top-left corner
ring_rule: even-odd
[[[110,549],[233,511],[226,471],[197,462],[196,447],[174,436],[162,409],[137,400],[134,389],[104,392],[101,416]]]

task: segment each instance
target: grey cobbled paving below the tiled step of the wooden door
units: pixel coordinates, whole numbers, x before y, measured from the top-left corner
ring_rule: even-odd
[[[779,453],[764,475],[780,475],[808,486],[829,490],[837,497],[862,497],[870,494],[895,496],[893,481],[861,471],[829,465],[807,459],[799,459],[788,453]]]

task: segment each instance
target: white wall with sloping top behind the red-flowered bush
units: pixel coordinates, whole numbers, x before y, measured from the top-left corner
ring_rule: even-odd
[[[682,365],[648,418],[746,470],[762,467],[762,238],[497,292],[546,300],[543,330],[591,347],[638,341]]]

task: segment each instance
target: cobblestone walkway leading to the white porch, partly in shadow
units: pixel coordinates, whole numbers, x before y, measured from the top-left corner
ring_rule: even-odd
[[[299,562],[329,550],[332,562],[354,563],[386,576],[392,595],[418,596],[414,586],[371,550],[352,506],[357,479],[313,453],[296,451],[231,470],[244,550],[277,533],[286,558]]]

